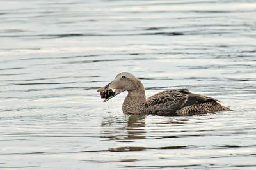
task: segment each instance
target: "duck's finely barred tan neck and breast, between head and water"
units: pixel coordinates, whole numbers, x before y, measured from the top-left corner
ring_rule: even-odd
[[[140,114],[140,108],[146,101],[144,87],[128,91],[128,95],[125,97],[123,103],[123,113],[127,114]]]

